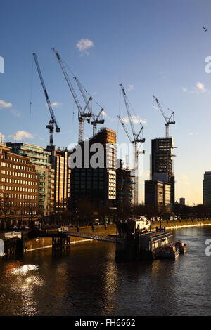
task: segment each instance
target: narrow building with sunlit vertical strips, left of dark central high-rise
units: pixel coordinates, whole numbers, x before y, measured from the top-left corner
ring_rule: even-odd
[[[54,211],[63,212],[68,207],[70,198],[70,172],[68,168],[68,150],[57,150],[55,146],[48,146],[51,153],[51,164],[54,169]]]

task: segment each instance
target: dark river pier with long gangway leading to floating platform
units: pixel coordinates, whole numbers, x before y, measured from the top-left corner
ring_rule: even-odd
[[[153,232],[127,231],[121,235],[98,235],[89,232],[59,232],[48,230],[33,230],[28,233],[29,239],[49,237],[52,239],[52,255],[70,251],[71,237],[108,242],[116,244],[116,260],[155,260],[159,257],[160,249],[164,249],[170,243],[173,236],[165,232],[164,228],[157,227]],[[15,258],[17,252],[23,253],[24,239],[5,239],[5,256]]]

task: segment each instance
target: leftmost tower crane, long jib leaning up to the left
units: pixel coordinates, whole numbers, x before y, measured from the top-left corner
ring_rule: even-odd
[[[47,102],[47,105],[49,107],[49,112],[51,114],[51,119],[49,121],[49,125],[47,125],[46,128],[48,128],[49,131],[50,131],[50,146],[52,147],[53,146],[53,129],[54,129],[54,126],[56,126],[55,131],[57,133],[60,132],[60,128],[58,127],[58,124],[56,122],[55,114],[53,113],[53,109],[52,109],[52,106],[51,106],[51,102],[49,100],[49,95],[48,95],[48,93],[46,91],[46,86],[44,84],[44,79],[43,79],[42,74],[41,74],[41,70],[40,70],[40,67],[39,67],[39,63],[38,63],[38,60],[37,60],[36,53],[33,53],[33,56],[34,56],[34,61],[35,61],[36,66],[37,66],[37,72],[39,74],[39,79],[41,81],[41,86],[42,86],[42,88],[44,90],[44,95],[46,97],[46,102]]]

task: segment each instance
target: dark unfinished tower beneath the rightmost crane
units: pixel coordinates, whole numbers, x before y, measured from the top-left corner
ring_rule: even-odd
[[[171,206],[174,206],[173,148],[174,140],[172,137],[152,140],[152,180],[171,183]]]

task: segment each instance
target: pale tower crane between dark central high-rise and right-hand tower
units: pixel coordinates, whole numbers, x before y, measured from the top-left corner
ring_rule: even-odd
[[[130,124],[131,129],[132,129],[132,136],[129,134],[129,131],[127,130],[126,126],[124,125],[123,119],[120,118],[120,116],[117,116],[117,118],[120,120],[120,123],[122,124],[122,127],[124,128],[124,131],[127,134],[127,137],[129,138],[130,143],[132,143],[132,145],[134,147],[134,204],[137,205],[138,201],[139,201],[139,198],[138,198],[139,197],[139,179],[138,179],[138,175],[139,175],[139,154],[141,154],[141,153],[144,154],[145,153],[145,150],[143,150],[143,151],[139,150],[141,145],[138,146],[138,143],[144,143],[145,138],[141,138],[141,136],[140,136],[141,132],[143,133],[143,126],[141,124],[141,121],[139,121],[139,124],[141,125],[139,133],[135,132],[134,123],[132,121],[132,115],[131,115],[131,112],[129,110],[129,103],[128,103],[128,100],[127,100],[127,95],[124,91],[124,87],[122,86],[122,84],[120,84],[120,87],[122,89],[124,103],[125,103],[128,118],[129,118],[129,124]]]

